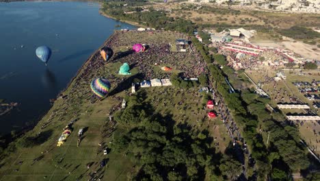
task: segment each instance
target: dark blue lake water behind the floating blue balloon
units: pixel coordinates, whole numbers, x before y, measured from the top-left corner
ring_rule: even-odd
[[[0,3],[0,99],[21,104],[0,117],[0,134],[38,121],[51,108],[49,99],[114,29],[134,28],[98,9],[98,3],[88,2]],[[47,67],[36,57],[40,45],[53,51]]]

